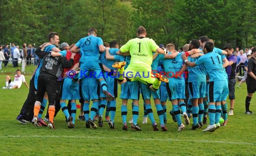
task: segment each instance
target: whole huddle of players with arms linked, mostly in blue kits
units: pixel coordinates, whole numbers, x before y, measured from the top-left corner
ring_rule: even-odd
[[[56,129],[54,117],[61,108],[68,128],[74,128],[76,100],[79,100],[79,119],[85,121],[86,128],[102,127],[106,108],[110,113],[110,118],[106,116],[108,125],[115,129],[117,90],[121,84],[119,98],[122,99],[123,130],[128,130],[128,100],[132,100],[131,128],[141,130],[137,123],[140,93],[144,101],[143,122],[146,123],[149,117],[155,131],[159,128],[152,111],[151,96],[162,131],[167,131],[167,100],[172,103],[170,114],[177,122],[177,131],[190,124],[191,116],[191,130],[207,124],[207,114],[209,125],[204,132],[213,132],[227,124],[225,100],[229,95],[230,75],[225,68],[230,63],[225,56],[227,52],[215,48],[207,36],[192,39],[183,47],[183,52],[176,52],[172,43],[158,46],[153,39],[146,37],[143,26],[137,29],[137,38],[129,40],[121,48],[115,40],[110,44],[103,43],[94,28],[88,30],[87,37],[71,45],[71,49],[63,43],[62,51],[56,47],[59,38],[55,32],[51,32],[48,39],[49,42],[35,52],[40,63],[31,78],[29,95],[17,117],[19,121],[31,121],[34,126]],[[186,84],[188,99],[185,97]],[[42,120],[47,99],[48,124]],[[71,108],[66,106],[66,100],[70,100]],[[91,100],[93,104],[89,109]],[[224,122],[220,124],[222,118]]]

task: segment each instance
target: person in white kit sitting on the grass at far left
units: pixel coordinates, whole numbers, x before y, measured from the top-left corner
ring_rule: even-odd
[[[25,86],[29,88],[29,86],[26,83],[24,75],[21,74],[20,69],[17,69],[16,75],[14,76],[14,81],[11,80],[9,75],[6,75],[5,87],[3,87],[2,89],[20,88],[22,82],[24,82]]]

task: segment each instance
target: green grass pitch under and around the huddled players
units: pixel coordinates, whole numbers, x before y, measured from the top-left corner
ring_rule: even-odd
[[[0,75],[1,87],[4,86],[4,76]],[[29,82],[30,78],[31,75],[27,75],[26,81]],[[68,129],[61,111],[56,117],[56,130],[49,127],[35,128],[32,124],[20,125],[15,119],[26,100],[28,89],[24,84],[20,89],[0,89],[0,155],[256,155],[255,115],[244,114],[247,91],[244,83],[242,87],[236,89],[234,116],[229,117],[227,126],[214,133],[191,131],[191,125],[186,126],[182,132],[177,132],[177,123],[172,121],[169,113],[168,131],[154,132],[150,121],[145,125],[141,124],[142,100],[138,123],[143,131],[131,130],[130,124],[128,131],[123,131],[119,98],[115,130],[110,130],[106,122],[102,128],[86,129],[84,121],[77,118],[75,129]],[[255,103],[256,98],[253,97],[250,108],[254,113]],[[155,107],[152,108],[156,112]],[[170,102],[167,108],[169,112],[172,108]],[[130,104],[128,109],[129,120],[132,117]],[[78,109],[77,112],[79,111]],[[159,123],[156,113],[154,117]]]

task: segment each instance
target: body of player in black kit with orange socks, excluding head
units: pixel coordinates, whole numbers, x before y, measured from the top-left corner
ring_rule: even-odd
[[[49,52],[42,52],[41,48],[37,48],[35,54],[43,59],[43,65],[40,69],[37,85],[37,97],[34,106],[34,125],[38,126],[37,117],[40,111],[40,105],[44,99],[44,92],[47,92],[49,100],[49,124],[52,129],[56,129],[53,125],[53,116],[55,113],[55,97],[57,89],[57,78],[62,74],[62,68],[71,68],[74,63],[75,53],[72,53],[70,60],[64,56],[51,56]]]

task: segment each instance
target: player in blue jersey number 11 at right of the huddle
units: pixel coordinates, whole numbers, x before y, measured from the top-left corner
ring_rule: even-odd
[[[221,94],[225,88],[225,71],[223,69],[223,63],[221,56],[212,52],[214,44],[211,42],[206,42],[204,44],[203,51],[205,55],[201,56],[197,61],[190,62],[188,61],[187,56],[182,55],[182,59],[190,67],[197,65],[203,65],[206,69],[207,74],[210,77],[209,80],[209,119],[210,125],[207,126],[205,131],[213,132],[216,130],[216,118],[221,117]]]

